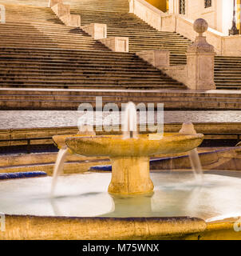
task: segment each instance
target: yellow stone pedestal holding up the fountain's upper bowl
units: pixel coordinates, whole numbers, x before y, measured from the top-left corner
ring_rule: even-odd
[[[148,157],[111,158],[110,194],[148,194],[154,189],[149,174]]]

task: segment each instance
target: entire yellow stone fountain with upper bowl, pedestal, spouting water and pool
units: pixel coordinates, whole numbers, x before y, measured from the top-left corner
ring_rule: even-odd
[[[0,232],[0,239],[239,238],[233,233],[241,214],[236,203],[241,200],[239,175],[203,174],[196,150],[203,134],[196,134],[192,123],[176,134],[138,134],[136,123],[136,108],[130,103],[123,134],[97,135],[92,129],[53,136],[60,149],[53,178],[1,182],[6,233]],[[189,155],[194,174],[169,168],[150,172],[152,156],[180,152]],[[108,157],[112,172],[61,175],[68,154]],[[154,166],[160,162],[154,159]]]

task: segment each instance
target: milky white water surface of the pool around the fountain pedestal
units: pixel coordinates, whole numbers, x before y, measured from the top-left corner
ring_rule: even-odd
[[[35,216],[190,216],[215,221],[241,215],[241,178],[235,175],[204,174],[200,185],[191,171],[160,171],[151,173],[153,193],[121,196],[107,192],[110,173],[71,174],[59,177],[55,198],[49,197],[50,177],[8,180],[1,182],[0,209]]]

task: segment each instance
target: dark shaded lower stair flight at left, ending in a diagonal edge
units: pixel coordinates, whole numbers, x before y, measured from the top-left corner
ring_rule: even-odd
[[[135,54],[41,48],[0,48],[0,82],[14,88],[185,88]]]

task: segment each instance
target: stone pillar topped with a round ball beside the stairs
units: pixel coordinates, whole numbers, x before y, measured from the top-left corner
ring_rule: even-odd
[[[199,33],[196,41],[187,51],[187,83],[192,90],[215,90],[214,62],[215,50],[206,41],[203,33],[207,31],[208,24],[203,18],[194,22],[194,30]]]

